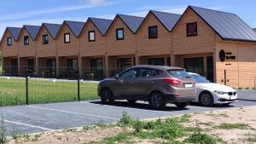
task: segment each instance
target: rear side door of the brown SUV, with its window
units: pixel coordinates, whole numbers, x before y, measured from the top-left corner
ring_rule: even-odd
[[[157,75],[153,68],[142,68],[139,77],[136,81],[137,87],[137,99],[146,100],[148,98],[148,92],[154,86],[154,77]]]

